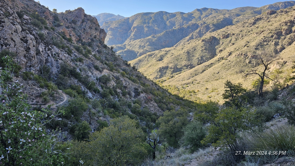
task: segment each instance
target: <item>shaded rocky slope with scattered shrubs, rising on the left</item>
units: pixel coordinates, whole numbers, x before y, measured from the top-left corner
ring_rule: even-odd
[[[94,112],[93,130],[98,119],[134,119],[137,115],[130,110],[135,103],[135,110],[154,113],[154,118],[167,109],[192,108],[190,101],[171,95],[116,55],[104,44],[106,32],[97,19],[82,8],[54,13],[33,0],[1,0],[0,18],[0,54],[17,54],[14,60],[21,71],[13,80],[24,84],[31,105],[45,105],[48,96],[49,103],[59,103],[64,93],[102,101],[103,112]],[[147,125],[144,120],[141,124]]]

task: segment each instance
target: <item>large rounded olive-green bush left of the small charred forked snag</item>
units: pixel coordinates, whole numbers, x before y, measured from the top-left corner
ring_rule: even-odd
[[[123,116],[94,132],[90,142],[73,142],[71,149],[85,165],[137,165],[147,155],[140,140],[142,134],[135,120]]]

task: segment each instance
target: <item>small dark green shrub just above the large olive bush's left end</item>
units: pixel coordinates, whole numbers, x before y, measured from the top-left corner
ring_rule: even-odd
[[[84,141],[89,139],[91,128],[89,123],[82,121],[81,123],[71,126],[69,133],[72,134],[74,139],[78,141]]]

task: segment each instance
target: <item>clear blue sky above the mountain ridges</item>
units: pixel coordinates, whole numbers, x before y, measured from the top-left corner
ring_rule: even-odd
[[[37,0],[36,0],[37,1]],[[39,0],[50,10],[57,9],[62,12],[68,9],[82,7],[86,14],[97,15],[99,13],[119,14],[130,17],[141,12],[190,12],[203,7],[215,9],[234,9],[237,7],[254,6],[261,7],[273,4],[278,0]]]

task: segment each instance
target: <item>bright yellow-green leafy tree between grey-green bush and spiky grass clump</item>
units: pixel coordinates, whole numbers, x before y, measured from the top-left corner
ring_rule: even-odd
[[[209,122],[209,134],[201,141],[202,144],[212,143],[213,147],[236,149],[237,133],[249,129],[253,112],[247,109],[217,109],[217,104],[208,104],[210,108],[201,109],[195,114],[197,120]],[[206,106],[205,106],[206,107]]]

